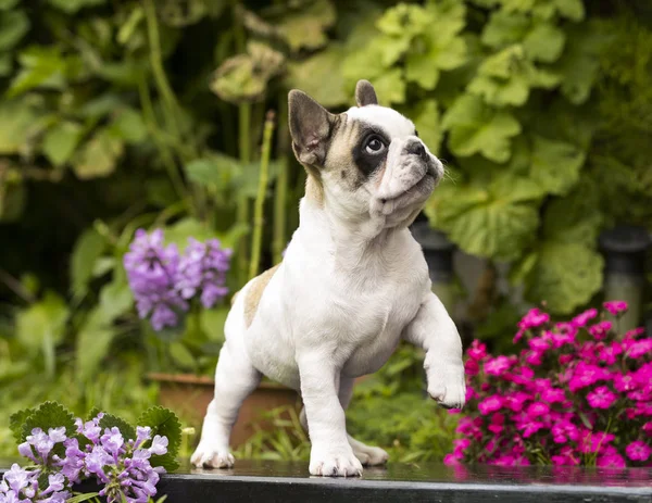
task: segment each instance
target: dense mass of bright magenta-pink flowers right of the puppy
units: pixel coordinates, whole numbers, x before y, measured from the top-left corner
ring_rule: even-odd
[[[605,302],[614,316],[625,302]],[[552,323],[531,310],[519,352],[467,351],[467,410],[447,464],[652,466],[652,339],[594,309]]]

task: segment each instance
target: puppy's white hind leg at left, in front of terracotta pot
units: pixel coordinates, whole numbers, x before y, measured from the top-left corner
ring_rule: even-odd
[[[261,374],[250,363],[242,340],[227,339],[215,369],[215,395],[204,417],[201,440],[190,458],[195,466],[230,468],[234,465],[228,448],[231,427],[242,401],[260,380]]]

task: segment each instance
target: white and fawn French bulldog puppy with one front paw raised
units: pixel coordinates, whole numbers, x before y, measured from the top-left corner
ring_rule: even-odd
[[[233,466],[231,426],[263,375],[301,394],[312,475],[384,464],[383,449],[347,435],[344,410],[353,380],[378,370],[401,340],[425,350],[430,397],[464,405],[460,335],[408,228],[443,165],[410,120],[378,105],[368,81],[358,83],[355,99],[335,115],[289,93],[292,148],[308,172],[300,225],[283,262],[236,294],[191,457],[198,467]]]

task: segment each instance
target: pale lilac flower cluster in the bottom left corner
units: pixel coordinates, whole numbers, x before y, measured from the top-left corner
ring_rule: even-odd
[[[152,467],[152,454],[167,452],[167,438],[151,438],[150,427],[138,427],[136,439],[125,439],[117,427],[102,428],[103,414],[89,422],[76,420],[76,431],[66,436],[65,427],[34,428],[18,452],[33,466],[13,464],[0,482],[0,503],[64,503],[72,487],[87,478],[103,486],[99,495],[109,503],[147,503],[156,494],[162,467]],[[147,445],[147,447],[146,447]],[[47,487],[39,487],[47,480]],[[45,483],[41,482],[41,486]]]

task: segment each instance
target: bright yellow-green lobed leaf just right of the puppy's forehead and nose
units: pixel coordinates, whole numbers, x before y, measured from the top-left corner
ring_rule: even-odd
[[[521,133],[521,124],[511,113],[492,109],[473,95],[455,100],[443,116],[442,127],[450,131],[449,148],[456,155],[481,153],[499,163],[510,159],[510,138]]]

